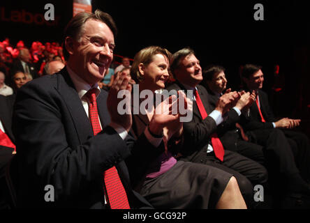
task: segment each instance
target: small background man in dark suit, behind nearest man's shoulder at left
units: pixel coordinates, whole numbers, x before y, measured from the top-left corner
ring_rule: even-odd
[[[12,75],[18,70],[31,75],[31,79],[38,77],[38,71],[36,66],[31,63],[31,54],[27,48],[20,49],[18,58],[13,62]]]

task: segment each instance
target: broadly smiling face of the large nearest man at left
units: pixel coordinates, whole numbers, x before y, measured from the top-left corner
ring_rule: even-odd
[[[68,37],[68,66],[88,84],[101,81],[110,67],[115,47],[114,35],[107,24],[98,20],[85,22],[80,41]]]

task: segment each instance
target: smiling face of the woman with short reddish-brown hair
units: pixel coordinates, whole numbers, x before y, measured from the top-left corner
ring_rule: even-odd
[[[169,77],[169,66],[168,58],[163,54],[152,56],[152,62],[147,66],[140,63],[139,70],[143,77],[140,89],[149,89],[153,92],[157,89],[164,89]]]

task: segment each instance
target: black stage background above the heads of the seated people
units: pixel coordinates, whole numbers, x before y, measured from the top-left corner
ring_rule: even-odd
[[[54,24],[45,24],[38,15],[36,23],[8,21],[12,10],[44,15],[45,3],[54,4]],[[264,21],[253,19],[255,3],[263,4]],[[202,68],[209,63],[224,66],[233,89],[239,86],[240,65],[262,65],[264,88],[276,114],[302,118],[302,128],[309,131],[310,9],[305,1],[94,0],[92,6],[110,13],[117,23],[115,54],[133,58],[149,45],[166,47],[172,53],[189,46]],[[0,7],[0,40],[8,37],[13,45],[18,40],[28,47],[35,40],[61,43],[64,26],[72,17],[72,1],[65,0],[1,1]],[[284,83],[280,93],[271,90],[276,64]]]

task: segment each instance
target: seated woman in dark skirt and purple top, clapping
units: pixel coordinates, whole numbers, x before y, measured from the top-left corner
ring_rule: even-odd
[[[162,96],[156,92],[163,90],[169,77],[171,57],[167,49],[157,46],[146,47],[135,55],[131,75],[138,83],[135,88],[138,86],[139,92],[133,92],[131,133],[136,139],[152,136],[152,144],[157,146],[141,145],[138,153],[133,151],[128,157],[131,181],[154,208],[246,208],[232,174],[175,159],[175,151],[182,146],[181,114],[168,112],[175,105],[168,102],[172,96],[162,102],[156,100]],[[144,93],[147,97],[140,98]],[[158,105],[154,105],[154,100]],[[180,100],[187,102],[186,97]],[[145,102],[150,103],[143,107]]]

